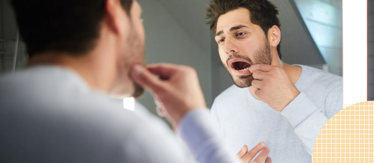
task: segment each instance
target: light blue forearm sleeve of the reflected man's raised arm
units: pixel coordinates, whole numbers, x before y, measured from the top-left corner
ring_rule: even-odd
[[[281,114],[288,119],[294,127],[295,134],[300,137],[304,147],[312,155],[316,138],[329,118],[303,92],[292,100]]]

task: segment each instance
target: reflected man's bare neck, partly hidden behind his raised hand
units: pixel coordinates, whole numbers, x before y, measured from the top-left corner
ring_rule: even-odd
[[[289,76],[289,78],[291,79],[291,82],[293,84],[295,84],[297,82],[297,80],[300,78],[300,75],[301,75],[301,67],[299,66],[294,66],[294,65],[289,65],[289,64],[286,64],[286,63],[283,63],[283,61],[281,61],[278,57],[278,52],[273,52],[272,54],[276,54],[276,55],[273,55],[273,58],[272,58],[272,65],[275,65],[275,66],[280,66],[283,68],[283,70],[286,72],[286,74]],[[255,95],[255,88],[254,87],[248,87],[249,91],[251,92],[251,94],[258,100],[260,100],[256,95]]]

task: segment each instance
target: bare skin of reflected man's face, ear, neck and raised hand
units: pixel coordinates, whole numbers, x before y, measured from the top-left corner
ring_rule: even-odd
[[[230,30],[232,27],[245,26]],[[218,35],[217,35],[218,34]],[[269,104],[276,111],[282,111],[300,92],[295,83],[301,75],[301,67],[283,63],[276,47],[281,41],[281,31],[278,26],[272,26],[267,31],[267,39],[260,26],[250,20],[249,10],[238,8],[221,15],[217,21],[215,40],[218,44],[221,61],[225,64],[230,55],[243,55],[255,60],[254,54],[264,44],[270,45],[271,65],[254,64],[247,72],[254,80],[248,89],[258,100]],[[243,74],[228,68],[233,80],[240,82]],[[247,74],[247,75],[248,75]]]

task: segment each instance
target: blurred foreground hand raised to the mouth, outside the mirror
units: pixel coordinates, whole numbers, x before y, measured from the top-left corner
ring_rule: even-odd
[[[154,64],[147,68],[134,66],[132,78],[140,86],[153,93],[165,109],[162,114],[169,116],[172,124],[178,125],[183,116],[196,108],[206,108],[196,70],[192,67],[174,64]],[[171,118],[171,119],[170,119]]]

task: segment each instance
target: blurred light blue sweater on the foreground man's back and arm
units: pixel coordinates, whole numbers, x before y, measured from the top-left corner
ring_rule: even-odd
[[[91,89],[72,70],[38,66],[0,77],[0,162],[239,163],[209,121],[190,111],[178,133],[139,103]],[[192,155],[190,155],[192,154]],[[196,161],[195,161],[196,160]]]

